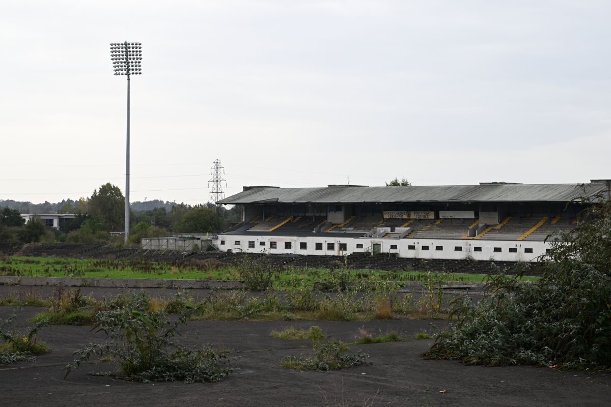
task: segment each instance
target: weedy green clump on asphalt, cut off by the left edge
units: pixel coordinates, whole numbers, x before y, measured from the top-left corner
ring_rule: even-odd
[[[40,328],[48,325],[48,321],[37,322],[27,333],[15,333],[9,330],[17,317],[13,311],[7,319],[0,319],[0,365],[33,360],[33,355],[47,353],[49,348],[45,342],[38,342],[37,334]]]

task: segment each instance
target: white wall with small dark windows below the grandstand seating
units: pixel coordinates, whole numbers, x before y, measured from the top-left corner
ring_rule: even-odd
[[[367,249],[371,251],[373,243],[381,245],[382,253],[398,253],[401,258],[421,259],[464,259],[471,256],[475,260],[497,261],[536,261],[541,254],[545,254],[549,243],[546,242],[518,242],[516,240],[466,240],[466,239],[375,239],[373,237],[327,237],[324,233],[320,236],[240,236],[219,235],[215,246],[221,251],[246,251],[248,253],[260,253],[263,250],[269,253],[293,253],[293,254],[351,254],[362,252]],[[221,244],[224,242],[224,244]],[[236,245],[235,242],[240,242]],[[254,242],[254,247],[249,248],[249,242]],[[269,242],[276,242],[276,248],[270,248]],[[290,248],[285,248],[285,242],[290,242]],[[264,243],[263,245],[261,243]],[[305,243],[306,248],[301,249],[300,243]],[[316,250],[315,243],[322,243],[322,250]],[[334,243],[333,249],[327,248],[327,243]],[[346,244],[346,251],[339,252],[340,243]],[[360,245],[360,247],[357,247]],[[396,245],[397,248],[391,248]],[[413,248],[410,248],[412,246]],[[428,246],[428,250],[423,247]],[[442,247],[442,250],[436,250]],[[481,251],[475,251],[475,248]],[[455,250],[460,248],[460,250]],[[500,251],[494,251],[500,248]],[[516,253],[510,253],[509,249],[515,248]],[[525,253],[524,249],[532,249],[532,253]]]

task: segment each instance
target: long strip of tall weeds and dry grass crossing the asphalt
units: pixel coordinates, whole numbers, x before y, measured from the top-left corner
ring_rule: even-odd
[[[265,260],[261,258],[260,261]],[[268,287],[263,291],[211,290],[196,298],[189,290],[179,290],[172,297],[150,297],[144,291],[126,291],[96,300],[83,295],[81,289],[58,286],[49,301],[48,311],[35,315],[62,325],[89,325],[95,313],[133,308],[140,311],[164,311],[182,314],[190,309],[191,319],[212,320],[371,320],[439,318],[445,313],[443,276],[426,273],[426,283],[419,298],[400,292],[400,284],[380,280],[356,279],[350,270],[327,270],[327,283],[316,289],[293,278],[282,290],[269,287],[265,267],[255,267],[255,281]],[[268,283],[265,283],[267,281]]]

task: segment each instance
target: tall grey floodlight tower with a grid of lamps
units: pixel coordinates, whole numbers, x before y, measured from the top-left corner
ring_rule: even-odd
[[[111,43],[111,60],[115,75],[127,75],[127,147],[125,153],[125,243],[130,234],[130,75],[142,74],[142,44]]]

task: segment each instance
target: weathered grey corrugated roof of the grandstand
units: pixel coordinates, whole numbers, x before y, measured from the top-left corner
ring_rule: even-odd
[[[484,184],[410,187],[253,188],[218,203],[568,202],[605,184]]]

